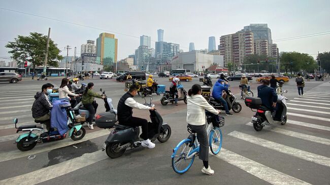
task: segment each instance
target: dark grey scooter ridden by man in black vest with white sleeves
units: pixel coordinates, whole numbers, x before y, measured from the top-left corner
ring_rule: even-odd
[[[151,101],[152,96],[150,97],[150,102],[145,103],[145,105],[154,106]],[[171,136],[171,127],[168,123],[163,122],[160,114],[156,110],[149,110],[149,112],[151,119],[148,126],[149,139],[152,142],[156,139],[159,142],[166,142]],[[122,156],[126,150],[135,149],[142,143],[142,140],[139,138],[139,127],[129,127],[115,124],[117,119],[116,114],[114,114],[114,110],[97,115],[95,122],[100,128],[115,128],[110,132],[102,148],[102,151],[106,151],[110,158],[118,158]]]

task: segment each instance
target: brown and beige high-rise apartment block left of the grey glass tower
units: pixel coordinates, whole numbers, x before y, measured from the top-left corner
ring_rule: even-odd
[[[245,56],[254,53],[252,31],[239,31],[234,34],[222,35],[219,50],[220,55],[224,55],[224,66],[228,62],[241,65]]]

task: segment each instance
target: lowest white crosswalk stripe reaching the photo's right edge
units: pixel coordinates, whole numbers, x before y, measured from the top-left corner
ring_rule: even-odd
[[[266,139],[262,139],[262,138],[258,138],[258,137],[254,137],[252,135],[248,135],[248,134],[244,134],[242,132],[238,132],[238,131],[233,131],[230,132],[228,135],[236,137],[238,139],[241,140],[245,140],[248,142],[251,142],[253,144],[257,144],[259,146],[263,146],[266,147],[268,149],[283,153],[283,154],[287,154],[293,157],[297,157],[306,161],[310,161],[316,164],[320,164],[320,165],[324,165],[327,167],[330,167],[330,158],[324,157],[324,156],[320,156],[317,154],[313,154],[310,152],[306,152],[306,151],[302,151],[299,149],[295,149],[293,147],[290,146],[286,146],[283,144],[279,144],[273,141],[269,141]]]

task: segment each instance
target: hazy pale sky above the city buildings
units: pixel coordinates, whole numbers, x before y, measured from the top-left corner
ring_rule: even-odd
[[[216,42],[219,42],[221,35],[236,32],[237,30],[241,30],[244,26],[253,23],[268,24],[268,27],[272,29],[273,43],[278,44],[280,52],[298,51],[308,54],[316,54],[317,51],[328,51],[327,43],[330,40],[329,34],[277,42],[277,40],[283,38],[290,38],[292,36],[312,34],[330,30],[329,25],[322,23],[326,22],[326,17],[329,17],[330,14],[325,8],[330,5],[330,3],[327,1],[324,1],[324,6],[318,7],[318,11],[316,13],[314,12],[313,14],[308,12],[311,12],[310,10],[313,10],[316,5],[308,2],[301,3],[300,1],[291,1],[285,6],[282,5],[283,3],[279,2],[258,2],[259,6],[252,6],[247,2],[220,3],[214,1],[212,3],[214,4],[214,6],[211,8],[212,11],[206,11],[209,8],[209,3],[201,5],[195,1],[191,1],[191,7],[189,6],[189,8],[187,8],[185,11],[178,12],[177,15],[174,16],[165,13],[168,10],[166,7],[169,5],[164,5],[166,6],[165,8],[158,10],[156,9],[157,3],[150,2],[150,12],[141,13],[139,16],[145,17],[147,14],[154,16],[145,17],[146,21],[143,23],[138,23],[130,19],[131,15],[135,15],[139,7],[142,6],[134,1],[126,2],[126,4],[118,2],[113,4],[113,6],[118,7],[118,10],[115,10],[115,12],[119,12],[119,9],[122,7],[127,8],[127,10],[129,10],[128,12],[130,12],[127,16],[123,16],[122,14],[115,15],[115,13],[110,15],[109,13],[105,13],[106,11],[103,10],[105,8],[101,8],[102,11],[96,11],[97,6],[88,2],[84,3],[84,5],[78,6],[74,10],[70,9],[70,11],[66,10],[69,10],[69,7],[74,4],[73,2],[68,2],[66,4],[45,2],[45,6],[54,7],[49,10],[35,9],[35,7],[37,7],[36,5],[38,4],[37,2],[3,2],[2,8],[5,9],[36,14],[39,16],[45,16],[105,30],[102,31],[100,29],[68,24],[61,21],[44,19],[41,17],[30,16],[2,9],[0,11],[0,15],[2,17],[2,23],[6,29],[2,29],[0,32],[0,40],[2,40],[0,42],[0,56],[9,56],[8,49],[5,48],[5,45],[7,44],[6,41],[13,41],[17,35],[28,35],[29,32],[36,31],[47,34],[48,27],[52,28],[51,39],[58,44],[59,49],[62,50],[62,55],[65,55],[64,46],[68,44],[71,47],[80,48],[82,44],[86,43],[86,40],[96,40],[98,34],[101,32],[115,34],[116,38],[118,39],[118,60],[120,60],[134,53],[135,49],[139,46],[140,35],[144,34],[154,38],[154,40],[151,40],[151,46],[154,46],[155,41],[157,40],[157,29],[160,28],[166,31],[166,36],[163,39],[164,41],[178,43],[181,45],[180,49],[188,51],[190,42],[193,42],[196,44],[196,46],[199,46],[199,48],[195,49],[208,48],[209,35],[214,35]],[[178,8],[172,7],[171,11],[175,12],[180,7],[182,8],[184,4],[184,2],[178,3]],[[233,12],[225,9],[222,13],[226,14],[227,18],[217,17],[205,21],[203,18],[205,16],[201,16],[204,13],[207,13],[207,16],[218,14],[216,9],[220,5],[221,7],[229,7],[238,4],[246,5],[245,9],[237,9]],[[258,8],[266,6],[266,4],[270,7],[270,9],[276,11],[277,14],[272,15],[269,14],[270,10],[263,10]],[[90,7],[90,10],[92,11],[95,10],[93,14],[94,16],[81,19],[79,12],[83,11],[87,7]],[[196,7],[201,9],[201,13],[194,11]],[[246,13],[249,14],[248,18],[243,16]],[[186,16],[186,14],[189,16]],[[262,14],[262,16],[260,16],[260,14]],[[106,23],[106,19],[113,15],[115,15],[115,18],[112,19],[111,22]],[[180,17],[185,21],[178,21],[175,19],[177,17]],[[198,25],[199,20],[202,19],[204,20],[203,24],[205,26],[201,27]],[[156,20],[158,20],[158,22]],[[173,20],[173,22],[167,20]],[[214,25],[214,21],[221,22],[221,24]],[[132,26],[134,29],[131,29]],[[178,26],[180,26],[180,29],[177,29]],[[208,29],[204,27],[207,27]],[[210,27],[212,29],[210,29]],[[79,53],[79,50],[77,53]],[[73,55],[73,50],[69,51],[69,55]],[[315,57],[315,55],[312,56]]]

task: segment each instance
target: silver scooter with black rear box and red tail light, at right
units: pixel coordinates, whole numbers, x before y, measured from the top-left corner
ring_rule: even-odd
[[[285,89],[283,93],[287,93]],[[287,121],[286,116],[286,100],[287,98],[283,96],[283,93],[277,95],[277,110],[272,111],[271,109],[262,105],[260,98],[256,97],[246,97],[245,105],[250,107],[255,115],[252,117],[253,128],[256,131],[261,131],[265,125],[281,124],[285,125]],[[256,109],[254,111],[253,109]],[[280,119],[277,119],[279,118]]]

